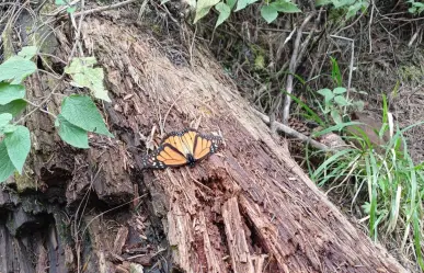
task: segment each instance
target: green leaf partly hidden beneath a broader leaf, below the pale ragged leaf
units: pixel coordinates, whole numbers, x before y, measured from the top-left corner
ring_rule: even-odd
[[[88,149],[89,136],[87,130],[75,126],[68,122],[61,114],[57,116],[55,125],[59,127],[60,138],[77,148]]]

